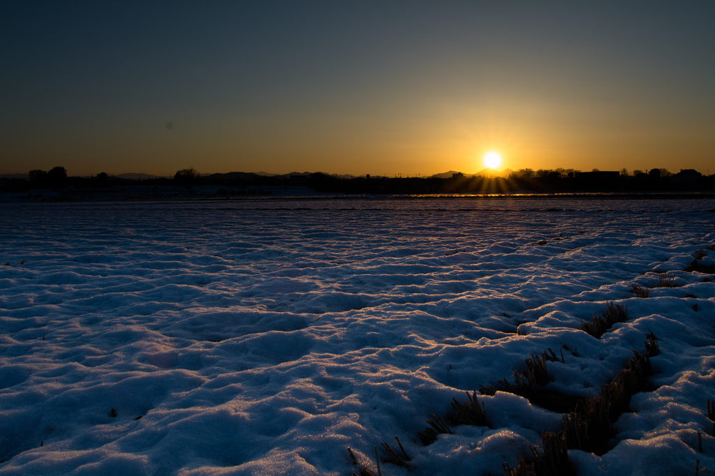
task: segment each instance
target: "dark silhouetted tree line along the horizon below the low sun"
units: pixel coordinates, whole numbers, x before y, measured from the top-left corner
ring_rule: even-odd
[[[29,188],[111,187],[127,180],[116,179],[102,172],[94,177],[67,177],[64,167],[49,171],[31,170]],[[225,194],[242,194],[246,187],[309,187],[318,192],[348,194],[441,194],[441,193],[509,193],[509,192],[661,192],[714,190],[715,176],[704,176],[695,170],[681,170],[676,174],[667,169],[636,169],[618,172],[593,169],[520,169],[508,177],[483,177],[455,173],[452,177],[345,177],[316,172],[308,175],[263,175],[230,172],[202,175],[193,167],[179,169],[173,179],[157,178],[141,182],[174,184],[183,187],[220,185]],[[231,190],[233,187],[233,190]]]

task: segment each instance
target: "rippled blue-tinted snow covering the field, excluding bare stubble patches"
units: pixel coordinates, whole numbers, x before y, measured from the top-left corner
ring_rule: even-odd
[[[715,201],[325,199],[3,204],[0,474],[503,474],[558,431],[522,397],[423,446],[431,414],[548,347],[596,395],[660,339],[579,475],[715,472]],[[701,259],[715,264],[715,252]],[[681,287],[649,288],[655,272]],[[675,273],[675,274],[673,274]],[[628,321],[579,330],[606,303]],[[576,351],[577,349],[577,351]],[[577,354],[577,355],[574,355]],[[114,415],[112,415],[114,409]],[[137,419],[141,417],[140,419]],[[703,452],[698,451],[701,432]]]

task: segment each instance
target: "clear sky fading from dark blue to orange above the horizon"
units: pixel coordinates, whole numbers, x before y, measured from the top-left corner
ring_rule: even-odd
[[[715,173],[715,2],[0,5],[0,174]]]

